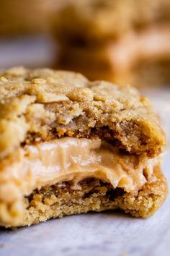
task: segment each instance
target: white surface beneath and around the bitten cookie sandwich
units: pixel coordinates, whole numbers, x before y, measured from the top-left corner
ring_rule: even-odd
[[[24,46],[28,46],[25,43]],[[48,45],[48,44],[47,44]],[[47,61],[49,48],[43,43],[36,46],[34,54],[24,64],[36,59],[36,63]],[[49,46],[49,45],[48,45]],[[4,48],[3,48],[4,47]],[[19,46],[9,43],[0,45],[0,54],[8,52],[9,48]],[[37,50],[35,50],[37,49]],[[48,49],[48,50],[47,50]],[[10,50],[12,51],[12,50]],[[9,53],[10,53],[9,51]],[[46,51],[46,54],[45,54]],[[12,51],[13,52],[13,51]],[[20,52],[20,51],[19,51]],[[23,48],[22,48],[22,52]],[[46,60],[38,59],[43,53]],[[25,52],[24,52],[25,54]],[[36,55],[37,54],[37,55]],[[1,67],[9,67],[16,63],[17,56],[12,60],[6,54],[1,59]],[[28,54],[29,56],[29,54]],[[19,59],[20,61],[23,60]],[[14,61],[15,59],[15,61]],[[48,59],[50,62],[50,58]],[[3,66],[4,61],[4,66]],[[28,61],[28,62],[27,62]],[[35,66],[35,62],[34,65]],[[40,65],[41,66],[41,65]],[[161,118],[161,122],[170,135],[170,88],[146,92]],[[170,182],[170,150],[169,144],[164,160],[164,174]],[[118,211],[109,213],[88,213],[80,216],[68,216],[40,223],[30,228],[16,231],[0,229],[1,256],[169,256],[170,255],[170,197],[158,212],[148,219],[132,218]]]

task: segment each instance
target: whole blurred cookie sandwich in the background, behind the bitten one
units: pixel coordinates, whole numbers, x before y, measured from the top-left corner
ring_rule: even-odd
[[[55,17],[57,67],[121,85],[170,81],[169,0],[71,1]]]

